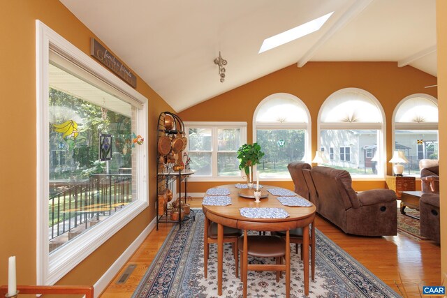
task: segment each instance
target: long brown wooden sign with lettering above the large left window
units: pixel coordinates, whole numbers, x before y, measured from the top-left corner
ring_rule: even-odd
[[[131,70],[126,68],[122,61],[119,61],[117,57],[113,56],[108,50],[105,49],[105,47],[103,47],[103,45],[101,45],[101,43],[98,43],[98,40],[94,38],[91,38],[90,54],[98,59],[98,61],[104,64],[107,68],[112,70],[112,72],[117,76],[121,77],[124,82],[131,85],[133,88],[137,87],[137,77],[135,77]]]

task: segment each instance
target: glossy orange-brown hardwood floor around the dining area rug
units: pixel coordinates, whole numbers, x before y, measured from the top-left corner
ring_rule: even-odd
[[[201,198],[194,199],[191,207],[201,207],[201,202]],[[171,224],[161,224],[158,231],[153,230],[101,297],[131,297],[171,228]],[[346,235],[319,216],[316,228],[403,297],[422,297],[423,285],[441,285],[440,248],[432,241],[417,241],[404,234],[387,237]],[[117,284],[129,265],[136,265],[133,273],[126,283]]]

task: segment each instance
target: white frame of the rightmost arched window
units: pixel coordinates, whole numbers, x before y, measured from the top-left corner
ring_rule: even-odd
[[[396,138],[396,134],[395,131],[404,131],[404,130],[416,130],[416,131],[432,131],[432,130],[436,130],[438,131],[438,159],[439,159],[439,125],[438,122],[422,122],[422,123],[418,123],[418,122],[404,122],[404,123],[396,123],[396,115],[397,115],[397,111],[400,109],[401,105],[403,103],[406,102],[406,100],[411,100],[412,98],[425,98],[428,99],[430,101],[432,101],[432,103],[434,103],[435,105],[437,105],[438,109],[438,100],[437,98],[435,98],[434,96],[431,96],[430,94],[423,94],[423,93],[418,93],[418,94],[411,94],[409,96],[406,96],[404,99],[400,100],[400,102],[396,105],[394,112],[393,112],[393,121],[391,123],[391,129],[393,131],[393,135],[392,135],[392,140],[393,140],[393,152],[395,151],[395,138]],[[439,112],[439,110],[438,110]],[[418,146],[416,147],[416,152],[418,153]],[[423,153],[425,154],[425,144],[423,144]],[[416,175],[416,177],[420,177],[420,174]]]

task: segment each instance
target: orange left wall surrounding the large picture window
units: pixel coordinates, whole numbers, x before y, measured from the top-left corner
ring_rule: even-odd
[[[17,283],[36,284],[36,28],[35,20],[89,54],[95,37],[57,0],[1,1],[0,11],[0,284],[8,282],[8,257],[17,256]],[[97,38],[98,39],[98,38]],[[149,98],[149,148],[156,148],[159,113],[172,108],[138,77]],[[154,218],[155,151],[149,151],[149,208],[59,281],[93,285]]]

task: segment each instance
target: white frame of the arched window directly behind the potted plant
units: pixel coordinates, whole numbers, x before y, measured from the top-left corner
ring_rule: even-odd
[[[263,104],[265,104],[269,100],[274,100],[276,98],[292,99],[292,100],[295,100],[297,103],[300,103],[302,105],[302,107],[305,107],[305,111],[307,114],[307,123],[305,123],[305,122],[277,123],[277,122],[258,122],[258,121],[256,121],[258,112],[261,109],[261,107],[263,106]],[[305,130],[306,131],[306,133],[305,133],[305,156],[303,157],[303,161],[305,163],[311,163],[311,161],[312,161],[312,144],[311,144],[312,118],[310,117],[309,108],[307,107],[305,102],[302,101],[297,96],[294,96],[293,94],[288,94],[288,93],[276,93],[276,94],[271,94],[271,95],[267,96],[266,98],[264,98],[263,100],[261,100],[261,102],[258,104],[258,106],[256,107],[256,110],[254,111],[254,114],[253,114],[253,140],[254,140],[253,142],[256,142],[256,131],[258,129],[259,130],[272,130],[272,131],[291,130],[291,129]],[[262,150],[262,148],[261,148],[261,150]],[[254,170],[256,171],[256,166],[255,166]],[[268,177],[268,180],[269,181],[292,181],[291,177]]]

